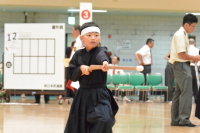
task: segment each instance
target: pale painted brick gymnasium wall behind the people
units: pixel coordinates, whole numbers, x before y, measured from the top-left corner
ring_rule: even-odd
[[[47,14],[47,13],[29,13],[29,23],[67,23],[66,14]],[[0,55],[3,53],[4,47],[4,23],[23,23],[23,13],[1,12],[0,13]],[[76,15],[78,23],[78,15]],[[199,18],[200,19],[200,18]],[[155,40],[155,46],[152,49],[153,66],[152,72],[161,72],[164,75],[166,60],[164,56],[170,48],[173,33],[178,30],[182,24],[182,17],[167,16],[119,16],[94,14],[93,20],[99,24],[101,28],[102,46],[107,46],[109,51],[134,58],[134,53],[141,48],[147,38]],[[71,33],[72,26],[66,24],[66,33]],[[108,38],[108,34],[112,38]],[[200,46],[200,24],[192,35],[196,36],[197,46]],[[131,40],[131,48],[128,50],[120,50],[116,52],[116,44],[118,40]],[[124,58],[124,57],[123,57]],[[0,58],[0,62],[2,59]],[[127,62],[121,61],[125,65]],[[135,61],[132,61],[136,65]]]

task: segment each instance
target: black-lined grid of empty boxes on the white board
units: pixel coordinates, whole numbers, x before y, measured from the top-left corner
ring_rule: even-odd
[[[19,38],[13,54],[13,74],[55,74],[54,38]]]

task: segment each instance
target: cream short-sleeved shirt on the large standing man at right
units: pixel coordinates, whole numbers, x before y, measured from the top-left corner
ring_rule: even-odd
[[[171,42],[171,53],[170,62],[174,64],[177,62],[188,62],[189,60],[184,60],[178,57],[178,53],[185,52],[188,54],[189,50],[189,40],[187,32],[183,27],[181,27],[173,36]]]

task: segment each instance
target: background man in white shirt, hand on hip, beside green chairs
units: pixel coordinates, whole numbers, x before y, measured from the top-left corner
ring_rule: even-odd
[[[145,85],[147,85],[147,78],[146,75],[148,73],[151,73],[151,65],[152,65],[152,54],[151,54],[151,48],[154,46],[154,40],[151,38],[148,38],[146,41],[146,45],[144,45],[141,49],[139,49],[136,53],[136,60],[138,61],[138,65],[142,65],[144,67],[144,70],[141,72],[144,74],[145,78]],[[147,93],[140,92],[139,100],[143,100],[146,102],[152,102],[147,98]],[[144,96],[143,96],[144,95]]]

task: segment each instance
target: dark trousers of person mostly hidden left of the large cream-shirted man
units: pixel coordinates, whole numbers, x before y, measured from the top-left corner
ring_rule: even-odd
[[[174,84],[173,65],[167,62],[167,65],[165,68],[165,86],[168,86],[168,101],[172,101],[172,98],[173,98],[173,93],[175,91],[173,84]]]

